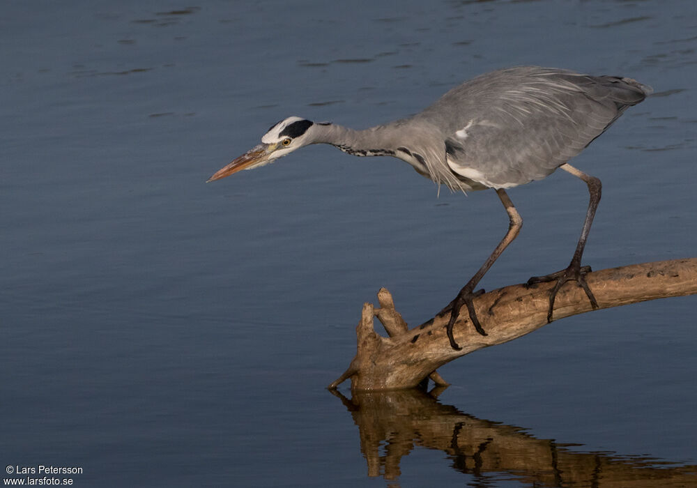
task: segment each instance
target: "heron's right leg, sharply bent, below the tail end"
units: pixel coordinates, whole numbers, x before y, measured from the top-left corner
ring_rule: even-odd
[[[550,282],[556,280],[554,288],[549,293],[549,309],[547,310],[547,323],[552,321],[552,312],[554,310],[554,300],[557,296],[557,292],[560,290],[563,284],[567,281],[576,281],[580,287],[585,291],[585,295],[588,296],[590,300],[590,305],[594,309],[598,308],[597,300],[593,296],[593,292],[590,291],[588,283],[585,282],[585,275],[590,273],[590,266],[581,266],[581,257],[583,257],[583,248],[585,247],[585,241],[588,239],[588,232],[590,231],[590,225],[593,223],[593,218],[595,217],[595,209],[598,208],[600,202],[600,194],[602,190],[602,184],[598,178],[595,176],[590,176],[585,174],[583,171],[576,169],[569,163],[565,163],[560,166],[561,169],[569,171],[569,173],[574,176],[578,176],[585,184],[588,185],[588,192],[590,193],[590,201],[588,202],[588,211],[585,213],[585,221],[583,222],[583,229],[581,229],[581,237],[579,238],[579,243],[576,244],[576,251],[574,252],[574,257],[572,257],[571,264],[569,267],[557,271],[556,273],[551,273],[551,275],[546,276],[533,276],[528,280],[528,285],[533,283]]]

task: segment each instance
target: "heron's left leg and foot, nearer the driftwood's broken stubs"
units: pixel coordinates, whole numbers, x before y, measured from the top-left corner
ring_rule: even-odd
[[[487,335],[487,333],[484,332],[484,329],[482,328],[479,319],[477,319],[475,307],[472,303],[473,298],[479,296],[483,292],[483,290],[474,293],[474,289],[477,286],[477,283],[479,283],[480,280],[482,280],[482,277],[484,277],[484,275],[487,274],[487,271],[489,270],[489,268],[491,268],[491,265],[494,263],[494,261],[496,261],[496,259],[498,259],[503,250],[505,250],[505,248],[508,247],[510,243],[512,243],[513,239],[516,238],[516,236],[518,235],[521,227],[523,227],[523,219],[519,215],[518,211],[516,211],[516,208],[513,206],[513,202],[508,197],[508,194],[505,192],[505,190],[498,189],[496,190],[496,194],[498,195],[498,198],[501,200],[501,203],[506,208],[506,212],[508,213],[508,231],[506,232],[506,235],[503,237],[501,242],[498,243],[496,249],[493,250],[491,256],[489,256],[487,261],[484,261],[482,267],[467,282],[463,289],[460,290],[460,293],[457,294],[457,297],[455,297],[455,299],[452,300],[452,302],[450,302],[439,313],[439,315],[442,315],[446,312],[450,312],[450,321],[448,321],[446,329],[447,338],[448,340],[450,340],[450,346],[452,346],[452,349],[455,349],[456,351],[459,351],[462,348],[457,345],[457,342],[455,342],[454,337],[452,337],[452,326],[454,326],[455,321],[457,320],[457,317],[460,314],[460,308],[462,307],[462,305],[467,306],[467,310],[470,314],[470,320],[472,321],[473,326],[475,326],[475,329],[477,329],[477,332],[481,335]]]

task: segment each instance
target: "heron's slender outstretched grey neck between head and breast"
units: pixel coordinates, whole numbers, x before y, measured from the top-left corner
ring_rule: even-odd
[[[354,130],[333,123],[315,124],[314,132],[314,143],[331,144],[355,156],[392,156],[398,146],[389,125]]]

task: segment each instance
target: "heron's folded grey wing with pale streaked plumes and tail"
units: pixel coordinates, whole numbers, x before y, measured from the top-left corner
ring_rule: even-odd
[[[627,78],[512,68],[459,86],[424,114],[443,128],[454,173],[510,188],[551,174],[649,90]]]

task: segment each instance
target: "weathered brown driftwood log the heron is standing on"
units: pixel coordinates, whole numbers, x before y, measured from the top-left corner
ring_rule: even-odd
[[[657,261],[608,268],[586,275],[588,285],[600,308],[618,307],[657,298],[697,293],[697,258]],[[431,375],[436,384],[445,384],[436,369],[455,358],[503,344],[546,325],[549,290],[554,283],[515,284],[475,298],[474,306],[487,336],[478,334],[469,322],[466,309],[461,310],[454,326],[454,337],[461,351],[450,347],[445,334],[447,314],[434,317],[416,328],[408,329],[395,310],[390,293],[381,289],[381,306],[363,305],[361,321],[356,328],[358,352],[336,381],[339,386],[351,378],[352,390],[391,390],[411,388]],[[572,283],[559,291],[554,319],[592,310],[583,289]],[[390,337],[378,335],[373,317],[381,320]]]

